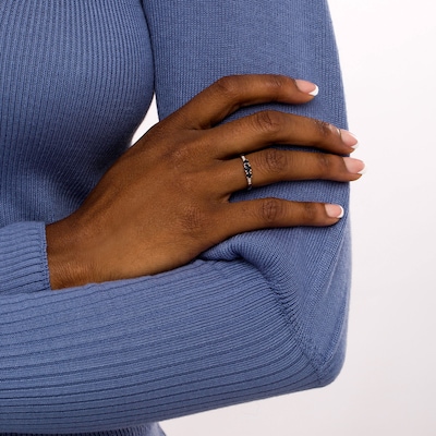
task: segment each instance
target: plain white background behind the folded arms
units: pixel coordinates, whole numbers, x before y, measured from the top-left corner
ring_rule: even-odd
[[[348,356],[329,387],[162,423],[168,436],[436,435],[436,25],[429,0],[330,0],[354,154]],[[156,122],[152,110],[148,123]]]

